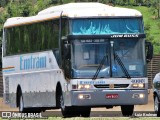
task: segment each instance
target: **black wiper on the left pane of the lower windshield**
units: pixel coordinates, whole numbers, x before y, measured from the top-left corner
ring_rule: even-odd
[[[98,66],[98,68],[97,68],[97,70],[96,70],[96,73],[94,74],[92,80],[97,79],[97,76],[98,76],[99,72],[101,71],[104,62],[106,61],[106,58],[108,58],[108,55],[107,55],[107,54],[103,56],[103,58],[102,58],[102,60],[101,60],[101,62],[100,62],[100,64],[99,64],[99,66]]]

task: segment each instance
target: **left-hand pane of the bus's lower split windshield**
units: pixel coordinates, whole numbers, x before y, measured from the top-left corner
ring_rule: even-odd
[[[104,39],[74,40],[72,43],[74,78],[92,78],[104,56],[109,57],[109,41]],[[109,59],[106,57],[99,77],[109,76]]]

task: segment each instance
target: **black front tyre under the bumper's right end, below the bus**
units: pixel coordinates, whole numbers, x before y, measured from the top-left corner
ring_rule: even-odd
[[[134,105],[122,105],[121,111],[123,116],[132,116],[134,111]]]

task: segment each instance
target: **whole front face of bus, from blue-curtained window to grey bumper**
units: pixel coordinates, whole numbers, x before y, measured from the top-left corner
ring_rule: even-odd
[[[141,17],[71,19],[67,40],[71,56],[66,60],[65,71],[70,78],[71,94],[77,98],[72,101],[73,105],[147,103],[145,34]],[[119,54],[122,43],[124,55]]]

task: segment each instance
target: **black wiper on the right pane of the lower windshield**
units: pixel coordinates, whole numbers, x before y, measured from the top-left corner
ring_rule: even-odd
[[[122,60],[120,59],[120,57],[117,55],[117,53],[114,51],[114,58],[117,60],[118,64],[120,65],[123,73],[127,76],[127,78],[131,78],[131,76],[129,75],[126,67],[124,66]]]

